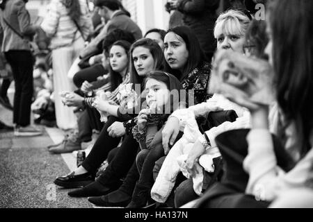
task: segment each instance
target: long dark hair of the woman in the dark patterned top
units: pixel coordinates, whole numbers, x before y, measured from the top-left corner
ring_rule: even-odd
[[[191,28],[188,28],[187,26],[176,26],[175,28],[170,28],[167,33],[175,33],[176,35],[179,35],[186,43],[189,57],[182,74],[179,75],[179,79],[183,80],[191,71],[193,71],[193,69],[200,66],[206,60],[204,53],[201,49],[198,37],[193,31],[191,31]],[[175,74],[175,76],[178,75]]]

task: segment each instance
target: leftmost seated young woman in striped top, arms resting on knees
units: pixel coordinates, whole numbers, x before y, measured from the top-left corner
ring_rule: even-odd
[[[126,85],[127,83],[129,83],[130,80],[128,71],[128,53],[130,46],[131,44],[125,40],[119,40],[117,42],[114,42],[109,49],[109,64],[106,64],[106,61],[104,61],[104,66],[109,69],[109,77],[107,83],[100,89],[97,89],[97,92],[109,93],[107,95],[108,101],[113,101],[116,104],[110,105],[111,113],[113,114],[115,113],[114,110],[118,108],[118,104],[120,104],[120,98],[118,97],[119,86]],[[65,137],[61,144],[57,144],[56,146],[48,146],[48,150],[50,153],[69,153],[75,150],[80,150],[81,141],[83,139],[88,139],[88,136],[91,134],[88,129],[90,129],[90,127],[93,127],[101,130],[103,127],[103,123],[100,121],[100,114],[98,110],[95,110],[95,107],[101,107],[103,105],[102,103],[106,104],[106,101],[102,101],[102,99],[99,99],[97,96],[83,98],[82,96],[79,96],[74,92],[68,93],[67,96],[70,97],[70,99],[63,99],[65,105],[72,105],[74,103],[85,103],[85,111],[88,115],[88,119],[80,119],[81,121],[83,121],[84,124],[79,122],[79,137]],[[95,106],[93,106],[93,103],[95,103]],[[86,124],[86,121],[88,121],[88,124]]]

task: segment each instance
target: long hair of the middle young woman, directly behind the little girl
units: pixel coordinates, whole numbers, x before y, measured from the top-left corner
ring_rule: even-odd
[[[163,51],[159,44],[157,42],[154,42],[151,39],[148,38],[143,38],[141,40],[138,40],[131,46],[130,50],[130,75],[131,75],[131,83],[134,84],[141,84],[143,83],[143,79],[145,77],[138,76],[136,68],[134,66],[134,59],[133,59],[133,51],[137,47],[142,46],[146,49],[149,49],[150,53],[152,54],[152,57],[154,59],[154,69],[158,70],[167,70],[168,69],[168,64],[166,63],[166,60],[164,58]]]

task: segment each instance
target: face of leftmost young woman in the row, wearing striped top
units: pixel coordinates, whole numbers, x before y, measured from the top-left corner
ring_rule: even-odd
[[[113,71],[121,72],[127,68],[128,56],[122,46],[112,46],[110,50],[110,65]]]

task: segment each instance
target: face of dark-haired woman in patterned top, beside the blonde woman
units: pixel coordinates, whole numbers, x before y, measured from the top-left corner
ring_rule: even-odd
[[[182,37],[175,33],[166,34],[164,38],[164,56],[172,69],[180,71],[184,69],[189,53]]]

